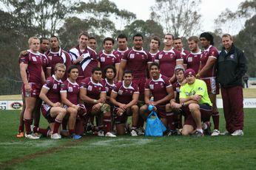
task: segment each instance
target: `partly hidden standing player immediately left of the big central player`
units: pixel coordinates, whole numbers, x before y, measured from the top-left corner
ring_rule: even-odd
[[[128,51],[127,36],[123,34],[118,35],[117,41],[118,41],[118,49],[115,50],[114,54],[116,54],[119,57],[119,60],[121,61],[121,59],[124,56],[124,52]]]

